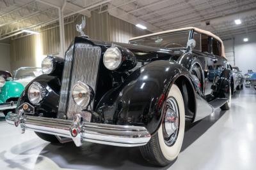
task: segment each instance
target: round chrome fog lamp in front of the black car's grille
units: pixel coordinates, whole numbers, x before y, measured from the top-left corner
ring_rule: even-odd
[[[81,108],[86,108],[92,101],[93,90],[90,86],[79,81],[76,83],[72,90],[72,99],[77,106]]]

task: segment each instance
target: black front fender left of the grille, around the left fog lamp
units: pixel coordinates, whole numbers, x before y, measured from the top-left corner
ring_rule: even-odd
[[[47,89],[47,93],[44,99],[38,105],[30,103],[28,99],[29,86],[35,81]],[[42,74],[36,77],[26,86],[25,90],[22,92],[22,95],[19,98],[17,107],[19,107],[22,103],[29,103],[32,106],[35,106],[35,116],[39,116],[38,114],[41,113],[44,114],[40,115],[42,117],[56,118],[60,100],[60,88],[61,85],[58,76]]]

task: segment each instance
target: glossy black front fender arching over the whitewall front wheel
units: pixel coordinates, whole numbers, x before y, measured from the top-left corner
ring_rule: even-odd
[[[187,78],[192,85],[188,70],[180,64],[168,60],[150,62],[109,90],[100,99],[96,111],[105,124],[141,125],[153,134],[163,120],[161,109],[166,92],[179,76]]]

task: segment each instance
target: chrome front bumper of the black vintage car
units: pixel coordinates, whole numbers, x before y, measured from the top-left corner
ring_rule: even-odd
[[[72,121],[8,113],[6,122],[20,127],[22,133],[28,129],[71,138],[76,146],[81,146],[83,141],[113,146],[142,146],[146,145],[151,138],[145,127],[82,122],[79,114]]]

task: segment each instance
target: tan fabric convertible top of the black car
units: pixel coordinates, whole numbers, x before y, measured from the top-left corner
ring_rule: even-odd
[[[168,30],[168,31],[156,32],[156,33],[152,33],[152,34],[147,34],[145,36],[137,36],[137,37],[129,39],[129,41],[132,41],[132,40],[135,40],[135,39],[140,39],[140,38],[146,38],[146,37],[150,37],[150,36],[157,36],[157,35],[160,35],[160,34],[166,34],[166,33],[170,33],[170,32],[179,32],[179,31],[186,31],[186,30],[191,30],[191,29],[195,30],[196,32],[202,33],[202,34],[206,34],[207,36],[211,36],[212,38],[215,38],[218,41],[220,41],[220,43],[221,43],[221,55],[223,57],[226,57],[223,41],[220,39],[220,37],[212,34],[212,32],[205,31],[203,29],[198,29],[196,27],[185,27],[185,28],[180,28],[180,29],[172,29],[172,30]]]

